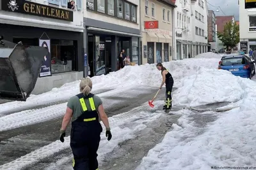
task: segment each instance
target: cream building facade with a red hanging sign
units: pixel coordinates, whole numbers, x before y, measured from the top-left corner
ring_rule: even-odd
[[[142,64],[173,59],[173,1],[141,1]]]

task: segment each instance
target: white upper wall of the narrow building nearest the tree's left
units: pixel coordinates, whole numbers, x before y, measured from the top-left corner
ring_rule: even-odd
[[[193,40],[196,42],[200,42],[200,43],[207,43],[207,39],[205,39],[205,37],[208,37],[208,25],[207,25],[207,2],[205,0],[200,0],[204,2],[204,8],[202,8],[201,6],[199,6],[198,1],[196,1],[195,3],[191,3],[191,10],[193,13],[193,25],[192,25],[192,29],[193,29]],[[201,2],[202,5],[202,2]],[[196,12],[198,11],[198,15],[199,13],[201,15],[204,15],[204,20],[201,19],[198,20],[196,19]],[[200,29],[204,29],[204,36],[198,36],[195,35],[195,27],[198,27]]]

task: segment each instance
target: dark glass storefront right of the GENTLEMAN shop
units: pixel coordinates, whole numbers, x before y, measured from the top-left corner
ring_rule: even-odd
[[[99,76],[120,69],[118,57],[124,49],[131,62],[139,64],[140,30],[91,18],[86,20],[88,75]]]

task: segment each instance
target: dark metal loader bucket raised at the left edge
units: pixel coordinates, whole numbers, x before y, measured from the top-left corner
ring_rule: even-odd
[[[0,41],[0,98],[26,101],[49,52],[42,46],[23,46]]]

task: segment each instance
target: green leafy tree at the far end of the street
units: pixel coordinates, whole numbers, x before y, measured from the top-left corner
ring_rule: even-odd
[[[224,25],[223,32],[217,32],[217,36],[220,41],[223,42],[224,46],[230,46],[233,48],[239,43],[239,25],[232,24],[232,22],[228,22]]]

